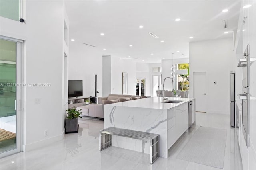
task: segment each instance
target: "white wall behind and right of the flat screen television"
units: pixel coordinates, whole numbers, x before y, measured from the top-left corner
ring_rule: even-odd
[[[97,74],[97,96],[102,96],[102,52],[80,42],[70,42],[69,80],[83,80],[83,96],[95,96],[95,74]]]

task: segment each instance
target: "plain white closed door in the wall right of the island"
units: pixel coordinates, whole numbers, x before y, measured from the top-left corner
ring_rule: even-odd
[[[193,93],[196,98],[196,111],[207,111],[207,75],[206,72],[193,73]]]

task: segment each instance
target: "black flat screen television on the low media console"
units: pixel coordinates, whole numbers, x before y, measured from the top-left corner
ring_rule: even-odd
[[[68,97],[83,96],[83,80],[68,80]]]

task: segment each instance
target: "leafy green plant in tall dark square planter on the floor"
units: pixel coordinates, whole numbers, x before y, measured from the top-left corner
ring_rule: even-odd
[[[81,109],[80,109],[81,110]],[[78,133],[78,117],[82,114],[76,108],[68,109],[66,118],[66,131],[65,133]]]

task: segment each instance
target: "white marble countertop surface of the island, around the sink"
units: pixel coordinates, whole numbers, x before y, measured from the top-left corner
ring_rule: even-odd
[[[129,100],[126,102],[118,102],[110,105],[114,106],[125,106],[125,107],[138,107],[138,108],[148,108],[148,109],[171,109],[173,107],[179,106],[186,102],[190,102],[194,98],[167,98],[167,100],[182,100],[180,103],[162,103],[163,97],[151,97],[151,98],[142,98],[138,100]]]

